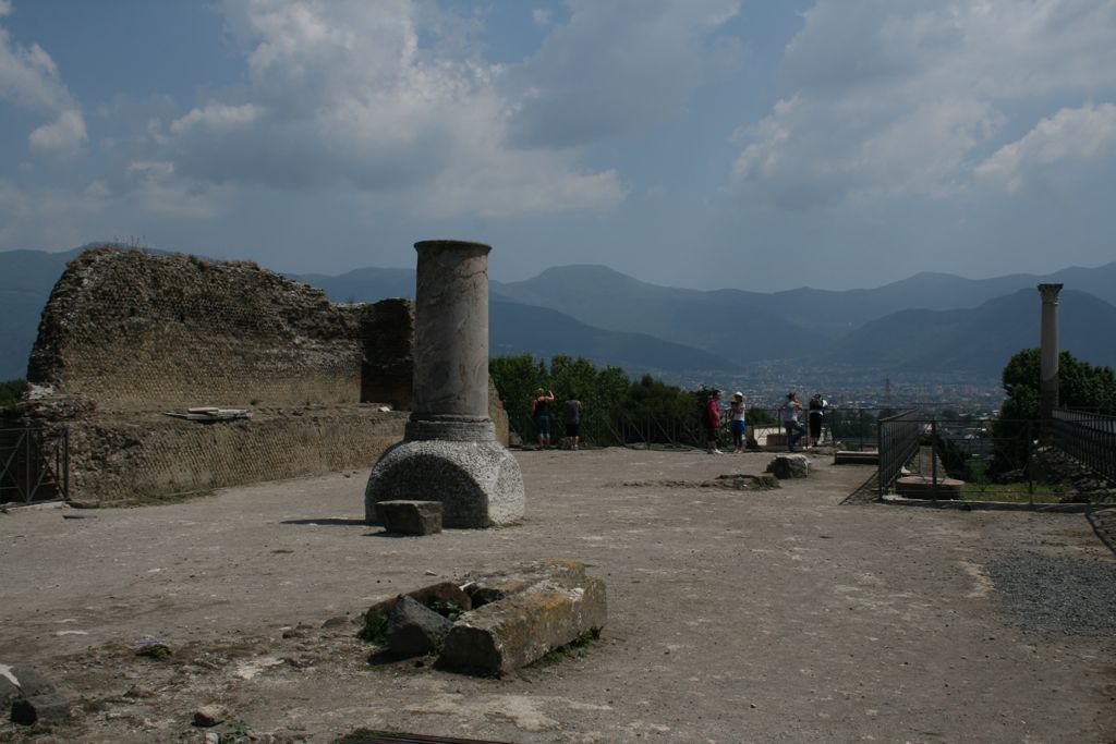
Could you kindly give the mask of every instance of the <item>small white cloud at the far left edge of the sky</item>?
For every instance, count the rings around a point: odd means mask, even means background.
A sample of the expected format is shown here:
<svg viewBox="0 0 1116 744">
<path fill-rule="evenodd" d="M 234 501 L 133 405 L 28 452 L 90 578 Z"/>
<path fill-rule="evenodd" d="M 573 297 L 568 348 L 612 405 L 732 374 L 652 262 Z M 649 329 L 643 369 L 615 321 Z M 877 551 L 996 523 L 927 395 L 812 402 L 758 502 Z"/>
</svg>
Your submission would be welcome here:
<svg viewBox="0 0 1116 744">
<path fill-rule="evenodd" d="M 0 0 L 0 18 L 10 12 L 11 3 Z M 65 157 L 85 144 L 80 107 L 62 84 L 54 59 L 37 44 L 30 48 L 15 44 L 4 28 L 0 28 L 0 99 L 56 117 L 30 134 L 28 144 L 36 153 Z"/>
</svg>

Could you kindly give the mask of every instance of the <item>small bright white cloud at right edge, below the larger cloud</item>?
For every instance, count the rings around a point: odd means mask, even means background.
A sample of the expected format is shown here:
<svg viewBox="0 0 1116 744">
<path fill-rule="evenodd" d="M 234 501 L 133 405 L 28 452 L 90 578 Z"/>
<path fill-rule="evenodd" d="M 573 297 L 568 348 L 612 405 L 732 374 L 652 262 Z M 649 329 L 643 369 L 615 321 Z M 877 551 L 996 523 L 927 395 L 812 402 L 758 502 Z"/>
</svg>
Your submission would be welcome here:
<svg viewBox="0 0 1116 744">
<path fill-rule="evenodd" d="M 1062 108 L 977 167 L 977 176 L 1011 192 L 1067 168 L 1107 167 L 1116 160 L 1116 105 Z"/>
</svg>

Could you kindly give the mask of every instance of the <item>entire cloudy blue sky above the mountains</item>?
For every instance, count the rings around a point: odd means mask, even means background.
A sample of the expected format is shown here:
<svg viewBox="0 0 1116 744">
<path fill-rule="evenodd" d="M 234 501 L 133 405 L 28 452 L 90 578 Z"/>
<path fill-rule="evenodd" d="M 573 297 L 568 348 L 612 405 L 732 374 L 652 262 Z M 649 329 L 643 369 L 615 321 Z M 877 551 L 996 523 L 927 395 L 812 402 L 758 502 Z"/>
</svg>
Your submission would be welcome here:
<svg viewBox="0 0 1116 744">
<path fill-rule="evenodd" d="M 0 250 L 878 287 L 1116 260 L 1116 0 L 0 0 Z"/>
</svg>

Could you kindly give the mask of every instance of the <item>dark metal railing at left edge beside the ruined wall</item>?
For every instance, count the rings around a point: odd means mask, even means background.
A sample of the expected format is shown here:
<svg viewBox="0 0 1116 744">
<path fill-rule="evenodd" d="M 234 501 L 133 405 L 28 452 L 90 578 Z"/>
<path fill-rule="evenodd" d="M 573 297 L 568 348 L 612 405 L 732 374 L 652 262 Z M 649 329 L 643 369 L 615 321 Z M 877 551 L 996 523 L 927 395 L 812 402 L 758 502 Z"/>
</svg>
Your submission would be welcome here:
<svg viewBox="0 0 1116 744">
<path fill-rule="evenodd" d="M 69 432 L 0 429 L 0 503 L 69 499 Z"/>
</svg>

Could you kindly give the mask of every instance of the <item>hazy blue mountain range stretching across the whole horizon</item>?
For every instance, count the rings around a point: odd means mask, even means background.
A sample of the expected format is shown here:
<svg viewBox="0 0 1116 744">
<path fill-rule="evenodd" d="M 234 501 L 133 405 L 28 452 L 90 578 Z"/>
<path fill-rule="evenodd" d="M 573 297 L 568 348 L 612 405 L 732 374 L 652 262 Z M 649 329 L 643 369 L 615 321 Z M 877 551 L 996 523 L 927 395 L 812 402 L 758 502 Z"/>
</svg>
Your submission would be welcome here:
<svg viewBox="0 0 1116 744">
<path fill-rule="evenodd" d="M 66 253 L 0 252 L 0 379 L 26 374 L 39 313 Z M 412 269 L 290 276 L 334 301 L 413 297 Z M 998 376 L 1038 346 L 1036 284 L 1061 282 L 1060 346 L 1116 366 L 1116 262 L 1047 276 L 964 279 L 924 272 L 875 289 L 780 292 L 662 287 L 603 265 L 555 267 L 490 282 L 493 355 L 584 356 L 629 374 L 732 375 L 767 360 L 889 373 Z"/>
</svg>

